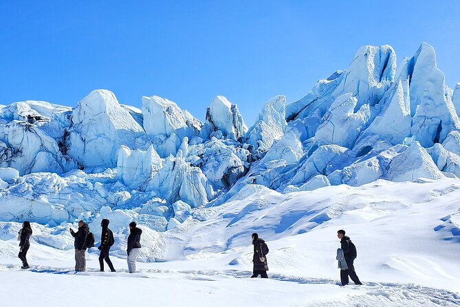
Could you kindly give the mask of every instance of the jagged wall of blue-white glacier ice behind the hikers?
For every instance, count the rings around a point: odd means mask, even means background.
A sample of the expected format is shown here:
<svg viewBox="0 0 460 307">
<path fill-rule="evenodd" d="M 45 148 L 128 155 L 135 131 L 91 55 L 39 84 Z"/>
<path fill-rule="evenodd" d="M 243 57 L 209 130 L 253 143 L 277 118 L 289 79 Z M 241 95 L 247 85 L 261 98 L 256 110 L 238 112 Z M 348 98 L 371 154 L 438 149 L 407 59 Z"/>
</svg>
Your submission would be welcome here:
<svg viewBox="0 0 460 307">
<path fill-rule="evenodd" d="M 201 123 L 176 103 L 142 110 L 99 89 L 75 108 L 0 106 L 0 220 L 138 220 L 165 231 L 249 184 L 280 193 L 329 185 L 460 177 L 460 83 L 423 43 L 397 65 L 364 46 L 300 100 L 275 96 L 247 127 L 216 96 Z M 206 217 L 199 217 L 206 220 Z"/>
</svg>

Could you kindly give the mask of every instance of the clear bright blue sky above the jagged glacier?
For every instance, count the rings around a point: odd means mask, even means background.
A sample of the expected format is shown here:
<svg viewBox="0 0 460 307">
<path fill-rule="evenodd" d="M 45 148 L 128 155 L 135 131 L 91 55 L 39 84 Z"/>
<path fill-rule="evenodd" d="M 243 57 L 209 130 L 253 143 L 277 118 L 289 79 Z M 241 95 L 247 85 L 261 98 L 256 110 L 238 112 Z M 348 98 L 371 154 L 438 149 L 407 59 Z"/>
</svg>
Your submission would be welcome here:
<svg viewBox="0 0 460 307">
<path fill-rule="evenodd" d="M 398 63 L 435 47 L 460 82 L 460 1 L 0 1 L 0 104 L 74 107 L 92 89 L 120 103 L 162 96 L 204 120 L 216 95 L 252 125 L 276 94 L 301 98 L 362 45 Z"/>
</svg>

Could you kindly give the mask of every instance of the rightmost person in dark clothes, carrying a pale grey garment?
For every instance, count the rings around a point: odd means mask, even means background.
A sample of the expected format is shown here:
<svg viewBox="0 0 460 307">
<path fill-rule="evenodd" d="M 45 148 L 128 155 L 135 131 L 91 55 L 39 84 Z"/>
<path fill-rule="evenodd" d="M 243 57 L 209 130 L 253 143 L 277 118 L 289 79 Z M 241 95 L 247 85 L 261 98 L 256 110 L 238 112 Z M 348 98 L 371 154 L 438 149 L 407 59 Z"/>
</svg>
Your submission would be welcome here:
<svg viewBox="0 0 460 307">
<path fill-rule="evenodd" d="M 340 249 L 342 250 L 338 251 L 337 253 L 337 260 L 339 260 L 340 268 L 340 281 L 342 282 L 342 286 L 345 286 L 349 283 L 349 276 L 355 284 L 361 284 L 358 275 L 355 273 L 355 267 L 353 266 L 353 262 L 356 258 L 355 244 L 351 242 L 350 237 L 347 237 L 347 235 L 345 235 L 345 231 L 342 229 L 337 231 L 337 237 L 340 239 Z M 345 260 L 345 263 L 343 262 L 342 258 Z"/>
</svg>

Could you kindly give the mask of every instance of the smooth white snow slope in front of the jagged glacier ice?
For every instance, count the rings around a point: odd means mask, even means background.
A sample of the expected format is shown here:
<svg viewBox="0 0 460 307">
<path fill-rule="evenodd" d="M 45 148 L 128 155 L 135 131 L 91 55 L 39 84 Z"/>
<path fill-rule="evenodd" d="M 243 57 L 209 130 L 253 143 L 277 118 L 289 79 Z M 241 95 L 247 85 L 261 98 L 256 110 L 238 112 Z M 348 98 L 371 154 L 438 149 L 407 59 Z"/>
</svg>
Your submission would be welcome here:
<svg viewBox="0 0 460 307">
<path fill-rule="evenodd" d="M 1 222 L 0 294 L 6 306 L 23 306 L 23 290 L 15 285 L 27 282 L 34 284 L 28 294 L 36 295 L 39 306 L 61 306 L 63 300 L 73 306 L 75 287 L 85 283 L 97 289 L 91 304 L 115 306 L 152 299 L 168 306 L 246 306 L 254 295 L 268 306 L 458 306 L 459 193 L 456 178 L 377 180 L 286 194 L 248 185 L 221 206 L 185 206 L 190 215 L 172 230 L 155 233 L 141 225 L 147 230 L 141 240 L 144 253 L 139 273 L 132 275 L 122 253 L 126 224 L 118 229 L 111 217 L 117 273 L 99 273 L 98 252 L 92 248 L 88 272 L 77 275 L 67 231 L 71 224 L 33 223 L 32 266 L 21 271 L 16 258 L 21 226 Z M 98 223 L 90 224 L 95 234 Z M 357 246 L 355 269 L 364 286 L 339 286 L 338 229 L 345 229 Z M 270 247 L 269 280 L 249 278 L 254 231 Z"/>
</svg>

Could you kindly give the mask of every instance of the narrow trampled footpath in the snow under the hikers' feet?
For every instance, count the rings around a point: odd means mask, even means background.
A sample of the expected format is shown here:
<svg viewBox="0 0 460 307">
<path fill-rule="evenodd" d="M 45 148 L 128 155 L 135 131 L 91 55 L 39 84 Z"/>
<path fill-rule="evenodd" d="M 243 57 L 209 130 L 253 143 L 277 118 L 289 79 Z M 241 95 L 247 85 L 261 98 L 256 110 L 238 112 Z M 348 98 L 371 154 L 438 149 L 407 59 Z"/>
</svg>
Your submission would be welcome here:
<svg viewBox="0 0 460 307">
<path fill-rule="evenodd" d="M 22 271 L 18 265 L 0 265 L 0 271 Z M 57 268 L 50 266 L 31 266 L 31 273 L 74 275 L 72 268 Z M 248 279 L 252 272 L 236 270 L 184 270 L 171 271 L 162 269 L 141 268 L 139 273 L 129 274 L 127 270 L 121 269 L 117 273 L 99 272 L 89 268 L 87 272 L 76 273 L 77 275 L 98 276 L 98 277 L 131 277 L 157 279 L 159 274 L 167 275 L 178 279 L 189 279 L 204 282 L 219 282 L 222 278 Z M 156 276 L 155 276 L 156 275 Z M 327 285 L 337 286 L 333 291 L 340 291 L 340 282 L 335 279 L 319 279 L 311 277 L 298 277 L 282 274 L 271 274 L 270 279 L 279 282 L 294 282 L 305 285 Z M 256 281 L 254 281 L 256 282 Z M 346 286 L 344 288 L 356 290 L 356 293 L 349 295 L 347 301 L 329 301 L 327 303 L 309 303 L 301 306 L 460 306 L 460 295 L 449 290 L 428 288 L 415 284 L 365 282 L 364 286 Z"/>
</svg>

